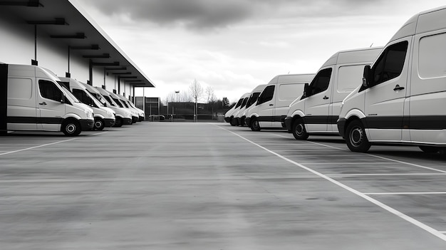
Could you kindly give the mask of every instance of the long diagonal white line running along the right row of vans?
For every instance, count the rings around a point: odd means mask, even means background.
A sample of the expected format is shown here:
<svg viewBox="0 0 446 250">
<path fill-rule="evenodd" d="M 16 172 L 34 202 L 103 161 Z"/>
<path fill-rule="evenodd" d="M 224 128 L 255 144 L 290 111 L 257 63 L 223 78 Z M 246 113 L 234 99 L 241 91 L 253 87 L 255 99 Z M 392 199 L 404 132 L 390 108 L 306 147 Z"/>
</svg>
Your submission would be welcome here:
<svg viewBox="0 0 446 250">
<path fill-rule="evenodd" d="M 301 165 L 298 162 L 289 160 L 288 158 L 284 157 L 283 155 L 280 155 L 274 151 L 271 151 L 271 150 L 267 149 L 266 147 L 263 147 L 263 146 L 257 144 L 256 142 L 252 142 L 251 140 L 248 140 L 247 138 L 243 137 L 242 135 L 238 135 L 237 133 L 227 130 L 224 127 L 220 127 L 218 125 L 216 125 L 216 126 L 221 128 L 222 130 L 226 130 L 227 132 L 232 133 L 233 135 L 237 135 L 238 137 L 242 138 L 243 140 L 246 140 L 247 142 L 251 143 L 252 145 L 256 145 L 257 147 L 260 147 L 262 150 L 265 150 L 266 152 L 270 152 L 271 154 L 276 155 L 277 157 L 281 158 L 282 160 L 285 160 L 286 162 L 296 165 L 297 167 L 301 167 L 302 169 L 307 170 L 308 172 L 312 172 L 314 175 L 318 175 L 319 177 L 326 179 L 329 182 L 332 182 L 333 184 L 336 184 L 339 187 L 342 187 L 343 189 L 346 189 L 346 190 L 352 192 L 353 194 L 356 194 L 359 197 L 362 197 L 363 199 L 368 200 L 369 202 L 372 202 L 373 204 L 377 205 L 378 207 L 381 207 L 381 208 L 387 210 L 388 212 L 395 214 L 396 216 L 400 217 L 401 219 L 404 219 L 405 221 L 410 222 L 410 223 L 414 224 L 415 226 L 420 227 L 421 229 L 424 229 L 425 231 L 429 232 L 430 234 L 432 234 L 434 236 L 437 236 L 438 238 L 442 239 L 443 241 L 446 241 L 446 235 L 440 233 L 439 231 L 433 229 L 432 227 L 427 226 L 426 224 L 423 224 L 422 222 L 419 222 L 418 220 L 413 219 L 412 217 L 410 217 L 406 214 L 403 214 L 402 212 L 399 212 L 398 210 L 393 209 L 392 207 L 389 207 L 388 205 L 383 204 L 382 202 L 378 202 L 378 200 L 373 199 L 372 197 L 369 197 L 368 195 L 363 194 L 356 189 L 348 187 L 346 184 L 342 184 L 341 182 L 338 182 L 335 179 L 332 179 L 326 175 L 323 175 L 320 172 L 317 172 L 316 170 L 312 170 L 309 167 L 305 167 L 304 165 Z"/>
</svg>

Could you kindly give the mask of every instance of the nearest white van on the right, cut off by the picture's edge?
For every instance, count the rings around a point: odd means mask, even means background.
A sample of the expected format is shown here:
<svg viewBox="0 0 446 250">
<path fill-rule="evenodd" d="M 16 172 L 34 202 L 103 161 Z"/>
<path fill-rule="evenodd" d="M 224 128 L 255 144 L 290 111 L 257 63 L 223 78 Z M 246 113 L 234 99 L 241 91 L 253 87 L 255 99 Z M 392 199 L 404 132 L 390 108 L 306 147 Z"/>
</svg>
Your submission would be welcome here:
<svg viewBox="0 0 446 250">
<path fill-rule="evenodd" d="M 343 100 L 338 129 L 351 151 L 376 142 L 446 149 L 446 6 L 409 19 Z"/>
</svg>

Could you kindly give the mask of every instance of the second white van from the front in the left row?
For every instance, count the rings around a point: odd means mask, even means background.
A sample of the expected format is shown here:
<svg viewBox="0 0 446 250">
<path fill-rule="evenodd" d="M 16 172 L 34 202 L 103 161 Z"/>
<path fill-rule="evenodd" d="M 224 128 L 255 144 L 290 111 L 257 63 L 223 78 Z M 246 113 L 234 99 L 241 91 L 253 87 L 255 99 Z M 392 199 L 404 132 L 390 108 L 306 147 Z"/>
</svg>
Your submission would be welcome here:
<svg viewBox="0 0 446 250">
<path fill-rule="evenodd" d="M 104 127 L 112 127 L 115 125 L 115 111 L 105 107 L 99 100 L 96 100 L 96 98 L 87 91 L 83 83 L 80 83 L 73 78 L 60 77 L 59 79 L 61 79 L 59 83 L 68 88 L 78 100 L 93 109 L 93 118 L 95 119 L 93 129 L 103 130 Z"/>
</svg>

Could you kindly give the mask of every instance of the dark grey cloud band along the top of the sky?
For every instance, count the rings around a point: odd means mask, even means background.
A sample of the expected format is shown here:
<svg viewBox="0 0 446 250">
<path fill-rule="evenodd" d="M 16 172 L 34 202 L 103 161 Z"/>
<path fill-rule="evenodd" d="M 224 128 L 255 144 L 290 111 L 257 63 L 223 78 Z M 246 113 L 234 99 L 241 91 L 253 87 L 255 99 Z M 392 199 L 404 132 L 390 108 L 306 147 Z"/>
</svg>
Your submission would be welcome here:
<svg viewBox="0 0 446 250">
<path fill-rule="evenodd" d="M 376 1 L 358 0 L 81 0 L 105 15 L 192 30 L 216 30 L 247 20 L 350 16 L 371 11 Z M 374 11 L 376 12 L 376 11 Z M 379 12 L 378 12 L 379 13 Z M 371 13 L 370 13 L 371 14 Z M 375 13 L 373 13 L 375 14 Z"/>
</svg>

